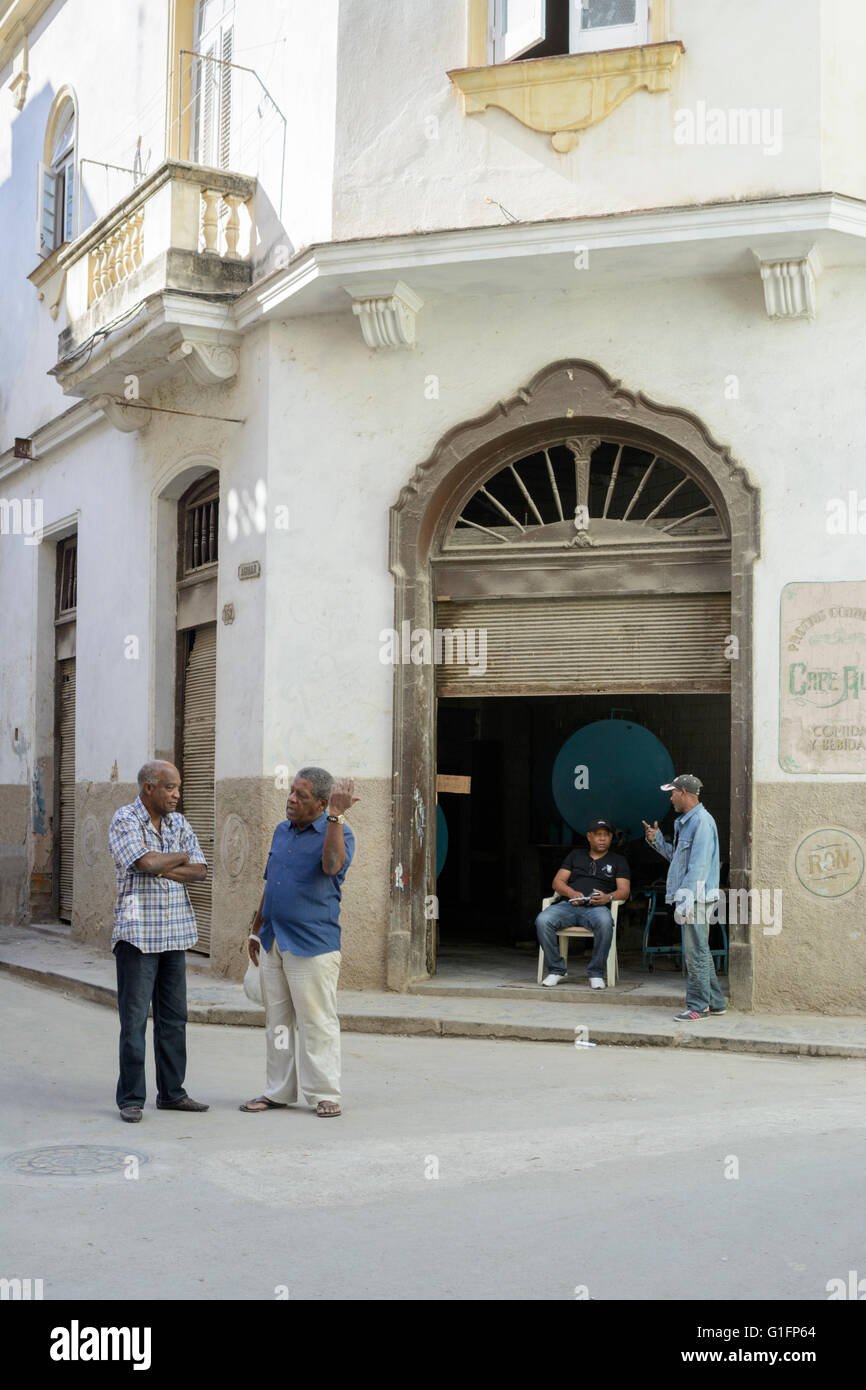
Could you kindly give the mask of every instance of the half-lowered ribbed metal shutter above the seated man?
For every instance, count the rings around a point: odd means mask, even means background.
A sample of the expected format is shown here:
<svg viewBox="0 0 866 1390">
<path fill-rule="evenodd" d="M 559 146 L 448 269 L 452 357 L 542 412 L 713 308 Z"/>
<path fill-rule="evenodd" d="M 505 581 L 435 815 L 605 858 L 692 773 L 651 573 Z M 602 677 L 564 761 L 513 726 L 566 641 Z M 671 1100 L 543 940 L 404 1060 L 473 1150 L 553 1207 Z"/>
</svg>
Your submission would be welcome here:
<svg viewBox="0 0 866 1390">
<path fill-rule="evenodd" d="M 731 688 L 730 594 L 442 600 L 436 627 L 452 630 L 450 649 L 442 638 L 438 659 L 434 645 L 439 695 L 727 694 Z M 487 631 L 484 671 L 480 630 Z"/>
</svg>

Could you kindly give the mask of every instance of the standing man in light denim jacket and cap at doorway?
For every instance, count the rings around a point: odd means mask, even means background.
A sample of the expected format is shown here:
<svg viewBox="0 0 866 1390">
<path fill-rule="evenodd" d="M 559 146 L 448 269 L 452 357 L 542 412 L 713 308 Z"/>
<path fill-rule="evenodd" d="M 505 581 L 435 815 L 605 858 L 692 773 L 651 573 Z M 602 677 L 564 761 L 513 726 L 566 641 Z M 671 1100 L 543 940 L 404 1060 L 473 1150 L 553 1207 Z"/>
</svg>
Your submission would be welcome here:
<svg viewBox="0 0 866 1390">
<path fill-rule="evenodd" d="M 669 860 L 664 901 L 676 903 L 674 917 L 683 923 L 685 949 L 685 1009 L 677 1023 L 695 1023 L 710 1013 L 724 1013 L 726 998 L 719 988 L 716 966 L 709 949 L 710 922 L 719 899 L 719 831 L 709 810 L 701 805 L 703 783 L 691 773 L 664 783 L 677 812 L 674 842 L 667 844 L 659 821 L 644 821 L 646 840 Z"/>
</svg>

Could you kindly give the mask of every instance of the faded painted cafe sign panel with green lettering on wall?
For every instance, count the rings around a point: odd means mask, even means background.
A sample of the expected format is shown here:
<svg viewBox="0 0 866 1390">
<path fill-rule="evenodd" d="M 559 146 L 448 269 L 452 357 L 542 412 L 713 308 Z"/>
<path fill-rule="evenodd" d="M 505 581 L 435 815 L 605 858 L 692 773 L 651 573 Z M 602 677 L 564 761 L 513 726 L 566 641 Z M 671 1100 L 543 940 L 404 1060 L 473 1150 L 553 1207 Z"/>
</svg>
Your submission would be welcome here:
<svg viewBox="0 0 866 1390">
<path fill-rule="evenodd" d="M 785 584 L 780 677 L 784 770 L 866 773 L 866 584 Z"/>
</svg>

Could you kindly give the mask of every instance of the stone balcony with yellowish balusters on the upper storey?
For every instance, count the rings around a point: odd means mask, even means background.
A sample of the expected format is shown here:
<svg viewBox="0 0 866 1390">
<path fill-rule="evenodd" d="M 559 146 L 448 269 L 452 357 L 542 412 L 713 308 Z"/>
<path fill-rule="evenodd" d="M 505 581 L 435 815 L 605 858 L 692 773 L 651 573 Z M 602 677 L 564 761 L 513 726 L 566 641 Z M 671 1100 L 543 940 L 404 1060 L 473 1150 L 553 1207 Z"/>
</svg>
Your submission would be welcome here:
<svg viewBox="0 0 866 1390">
<path fill-rule="evenodd" d="M 140 395 L 179 364 L 200 385 L 235 375 L 225 302 L 252 284 L 254 193 L 254 178 L 167 161 L 56 253 L 67 328 L 51 375 L 65 395 L 132 430 L 146 411 L 122 404 L 131 374 Z"/>
</svg>

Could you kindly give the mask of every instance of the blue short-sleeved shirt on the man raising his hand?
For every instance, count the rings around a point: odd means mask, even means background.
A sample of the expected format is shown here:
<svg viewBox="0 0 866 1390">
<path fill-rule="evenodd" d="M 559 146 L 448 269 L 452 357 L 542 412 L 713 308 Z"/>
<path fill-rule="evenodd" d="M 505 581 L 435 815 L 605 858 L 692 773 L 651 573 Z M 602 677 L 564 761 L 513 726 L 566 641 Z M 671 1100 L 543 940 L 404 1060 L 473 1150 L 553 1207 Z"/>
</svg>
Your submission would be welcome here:
<svg viewBox="0 0 866 1390">
<path fill-rule="evenodd" d="M 327 828 L 327 812 L 303 830 L 291 820 L 277 826 L 264 870 L 259 934 L 265 951 L 274 935 L 279 949 L 292 955 L 339 951 L 341 885 L 354 853 L 354 835 L 345 824 L 346 862 L 339 873 L 327 874 L 321 866 Z"/>
</svg>

